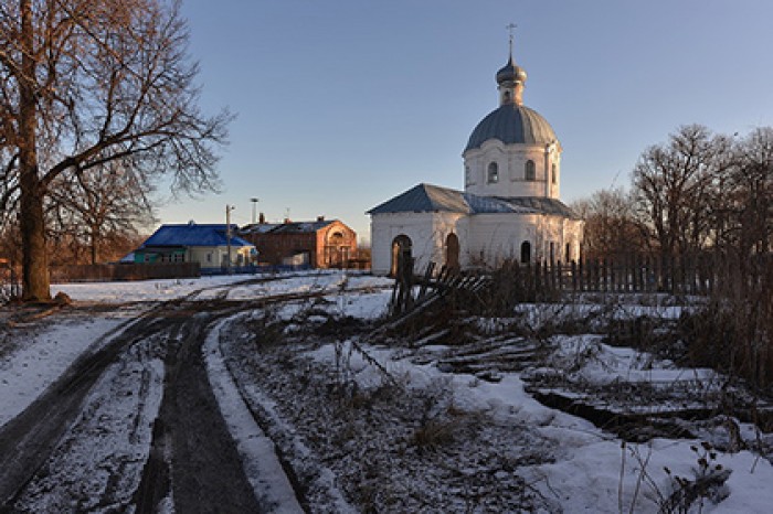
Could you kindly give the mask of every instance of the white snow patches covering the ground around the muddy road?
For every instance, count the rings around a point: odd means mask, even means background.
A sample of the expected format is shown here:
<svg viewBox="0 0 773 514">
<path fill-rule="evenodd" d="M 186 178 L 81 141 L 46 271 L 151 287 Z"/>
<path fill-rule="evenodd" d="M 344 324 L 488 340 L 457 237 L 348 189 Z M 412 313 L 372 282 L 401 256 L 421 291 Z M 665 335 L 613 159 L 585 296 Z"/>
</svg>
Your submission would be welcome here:
<svg viewBox="0 0 773 514">
<path fill-rule="evenodd" d="M 391 281 L 386 279 L 367 275 L 309 272 L 271 277 L 271 279 L 260 276 L 233 276 L 195 280 L 54 286 L 53 292 L 64 291 L 74 300 L 76 306 L 74 313 L 64 310 L 35 323 L 3 329 L 4 345 L 0 350 L 0 427 L 19 415 L 80 356 L 107 344 L 110 334 L 127 323 L 127 315 L 135 315 L 144 309 L 137 307 L 127 311 L 124 308 L 119 309 L 118 306 L 131 302 L 152 304 L 172 299 L 253 300 L 277 295 L 318 291 L 327 296 L 325 302 L 315 309 L 321 309 L 340 318 L 351 317 L 363 322 L 372 322 L 382 317 L 386 310 L 391 292 L 390 285 Z M 117 307 L 115 311 L 100 309 L 97 314 L 84 314 L 77 311 L 80 303 L 116 304 Z M 526 311 L 534 309 L 537 312 L 533 307 L 523 309 Z M 590 312 L 593 307 L 586 306 L 583 309 Z M 642 307 L 629 309 L 621 307 L 615 315 L 625 317 L 626 313 L 638 315 L 643 309 Z M 671 307 L 648 309 L 658 309 L 660 314 L 666 312 L 666 317 L 678 315 Z M 544 311 L 540 312 L 544 315 Z M 304 313 L 308 315 L 303 318 Z M 529 312 L 527 314 L 530 315 Z M 240 315 L 244 317 L 244 314 Z M 316 314 L 309 304 L 304 302 L 284 304 L 276 315 L 284 320 L 285 330 L 290 334 L 301 331 L 304 323 L 322 325 L 329 319 Z M 297 451 L 306 454 L 306 458 L 310 458 L 309 454 L 315 450 L 309 449 L 308 435 L 304 430 L 296 431 L 297 427 L 294 428 L 287 419 L 283 418 L 283 410 L 277 404 L 288 401 L 287 398 L 272 396 L 269 390 L 261 389 L 260 385 L 255 384 L 242 387 L 252 390 L 252 394 L 246 395 L 247 403 L 262 403 L 262 406 L 247 405 L 240 396 L 240 386 L 234 381 L 247 374 L 248 370 L 246 367 L 230 370 L 229 365 L 233 366 L 233 361 L 227 361 L 221 353 L 221 347 L 229 347 L 229 343 L 222 341 L 223 338 L 229 336 L 229 332 L 222 328 L 229 325 L 231 321 L 235 319 L 221 321 L 204 344 L 210 382 L 227 420 L 229 429 L 237 441 L 243 465 L 256 495 L 271 499 L 276 506 L 274 512 L 301 512 L 293 497 L 292 486 L 283 474 L 282 464 L 275 458 L 273 460 L 271 458 L 274 451 L 272 440 L 276 439 L 276 435 L 261 429 L 253 419 L 251 409 L 260 407 L 265 413 L 271 413 L 274 422 L 287 431 L 285 437 L 290 441 L 289 445 L 294 445 L 296 450 L 300 448 L 301 450 Z M 373 390 L 383 383 L 381 370 L 388 371 L 391 376 L 399 376 L 403 386 L 414 392 L 443 384 L 443 387 L 448 389 L 449 397 L 453 398 L 454 409 L 466 415 L 479 415 L 481 416 L 479 419 L 488 420 L 486 422 L 490 421 L 497 427 L 497 431 L 478 429 L 476 446 L 469 447 L 470 451 L 485 454 L 485 451 L 488 451 L 486 445 L 490 445 L 490 448 L 498 448 L 498 445 L 507 448 L 508 430 L 512 430 L 513 438 L 516 435 L 521 437 L 528 432 L 533 438 L 534 448 L 543 452 L 539 459 L 533 463 L 522 463 L 515 470 L 489 469 L 486 472 L 491 472 L 495 480 L 500 480 L 502 483 L 517 478 L 518 483 L 526 484 L 531 496 L 539 499 L 538 504 L 543 512 L 656 513 L 658 505 L 663 504 L 677 488 L 676 476 L 696 481 L 714 473 L 729 473 L 729 478 L 712 493 L 713 501 L 703 499 L 700 503 L 695 503 L 690 512 L 733 514 L 772 512 L 773 467 L 769 460 L 753 451 L 742 449 L 732 453 L 722 452 L 703 446 L 705 440 L 695 439 L 655 438 L 643 443 L 623 443 L 614 435 L 596 428 L 583 418 L 549 408 L 538 401 L 528 392 L 525 375 L 520 372 L 505 372 L 500 374 L 498 381 L 487 382 L 475 374 L 447 372 L 440 366 L 438 362 L 449 351 L 443 344 L 424 346 L 423 358 L 416 358 L 415 352 L 405 349 L 370 346 L 367 340 L 360 343 L 361 350 L 366 353 L 352 349 L 350 341 L 338 341 L 305 346 L 307 350 L 300 357 L 313 363 L 314 366 L 340 368 L 341 355 L 346 355 L 348 379 L 363 392 Z M 616 381 L 668 384 L 684 378 L 710 384 L 714 377 L 708 370 L 679 368 L 667 360 L 657 360 L 631 349 L 605 345 L 594 335 L 563 335 L 553 340 L 553 343 L 557 351 L 548 358 L 549 366 L 538 372 L 562 374 L 575 364 L 578 355 L 592 354 L 593 358 L 584 361 L 583 365 L 572 372 L 573 379 L 582 379 L 590 385 L 614 385 Z M 150 366 L 152 377 L 149 379 L 148 387 L 157 389 L 163 379 L 162 366 L 152 355 L 147 358 L 152 364 Z M 109 381 L 118 381 L 119 385 L 115 387 L 130 389 L 131 385 L 126 382 L 126 377 L 129 373 L 137 373 L 136 370 L 121 371 L 120 366 L 129 366 L 126 363 L 117 363 L 116 366 L 119 367 L 115 367 L 112 374 L 103 377 L 95 387 Z M 534 373 L 534 370 L 530 370 L 529 373 Z M 109 421 L 113 418 L 120 418 L 125 416 L 125 410 L 135 408 L 131 401 L 136 401 L 136 398 L 115 405 L 100 398 L 99 395 L 99 390 L 95 389 L 89 401 L 95 405 L 94 409 L 99 410 L 102 419 Z M 128 395 L 130 398 L 131 394 L 128 393 Z M 108 407 L 109 411 L 105 410 Z M 158 410 L 158 400 L 144 404 L 141 409 L 142 419 L 152 419 Z M 94 424 L 95 421 L 92 419 L 82 420 L 82 422 Z M 744 424 L 739 425 L 746 437 L 755 437 L 753 428 Z M 99 428 L 94 426 L 86 429 L 99 431 Z M 135 460 L 141 461 L 147 458 L 146 446 L 149 437 L 146 426 L 146 429 L 140 430 L 133 439 L 131 445 L 110 442 L 109 437 L 106 437 L 104 440 L 107 447 L 100 448 L 103 448 L 102 451 L 105 451 L 104 448 L 107 448 L 107 451 L 113 448 L 116 452 L 130 453 Z M 762 437 L 769 437 L 769 435 L 762 435 Z M 521 440 L 518 445 L 528 446 L 529 442 Z M 71 445 L 73 448 L 75 446 Z M 85 449 L 76 448 L 73 451 L 85 451 Z M 317 458 L 320 461 L 326 459 L 325 456 L 317 456 Z M 436 454 L 433 458 L 436 459 Z M 303 459 L 296 458 L 296 461 L 298 460 Z M 66 461 L 63 462 L 66 463 Z M 448 461 L 452 465 L 455 462 L 457 461 Z M 88 469 L 88 467 L 84 468 L 84 470 Z M 315 480 L 317 486 L 325 490 L 319 497 L 325 497 L 328 507 L 333 511 L 357 512 L 359 508 L 352 506 L 349 499 L 346 499 L 343 492 L 346 488 L 336 485 L 335 469 L 333 462 L 328 465 L 319 464 L 318 476 Z M 470 476 L 479 472 L 476 468 L 456 471 L 462 475 L 469 473 Z M 68 480 L 73 480 L 72 474 L 68 476 Z M 85 476 L 81 479 L 77 476 L 75 475 L 75 480 L 88 480 Z M 52 478 L 52 480 L 55 479 L 56 476 Z M 396 482 L 402 479 L 394 476 L 394 480 Z M 390 484 L 384 484 L 384 486 L 388 485 Z M 440 493 L 445 492 L 440 491 Z M 451 491 L 447 493 L 452 494 Z M 451 505 L 454 504 L 451 503 Z M 481 505 L 486 504 L 481 503 Z M 485 511 L 484 507 L 476 508 L 472 505 L 469 512 Z M 315 512 L 324 512 L 324 508 L 319 506 L 319 511 Z M 379 512 L 398 511 L 383 507 Z M 519 512 L 519 510 L 513 508 L 512 512 Z"/>
</svg>

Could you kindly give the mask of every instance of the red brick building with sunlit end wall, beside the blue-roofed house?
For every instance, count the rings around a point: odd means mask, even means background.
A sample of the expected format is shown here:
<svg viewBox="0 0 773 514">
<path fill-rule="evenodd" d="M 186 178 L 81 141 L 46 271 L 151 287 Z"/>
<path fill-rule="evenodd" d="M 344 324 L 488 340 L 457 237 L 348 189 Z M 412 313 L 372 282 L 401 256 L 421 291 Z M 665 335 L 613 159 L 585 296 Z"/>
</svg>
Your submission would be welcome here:
<svg viewBox="0 0 773 514">
<path fill-rule="evenodd" d="M 260 264 L 345 268 L 357 254 L 357 233 L 338 219 L 319 216 L 314 222 L 258 223 L 246 225 L 240 235 L 255 245 Z"/>
</svg>

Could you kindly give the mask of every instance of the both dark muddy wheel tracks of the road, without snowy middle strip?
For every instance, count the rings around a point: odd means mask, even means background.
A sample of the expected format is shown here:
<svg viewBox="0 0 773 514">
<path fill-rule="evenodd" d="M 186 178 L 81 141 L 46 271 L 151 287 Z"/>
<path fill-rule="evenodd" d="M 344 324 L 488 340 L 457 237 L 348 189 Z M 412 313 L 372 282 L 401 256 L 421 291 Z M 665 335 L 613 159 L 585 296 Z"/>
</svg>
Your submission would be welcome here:
<svg viewBox="0 0 773 514">
<path fill-rule="evenodd" d="M 150 454 L 133 496 L 136 512 L 157 512 L 170 496 L 177 512 L 263 510 L 222 418 L 201 345 L 212 323 L 224 317 L 335 292 L 282 293 L 248 301 L 192 300 L 199 292 L 161 303 L 103 335 L 102 343 L 95 344 L 97 351 L 80 357 L 23 413 L 0 428 L 0 512 L 23 510 L 17 502 L 71 429 L 106 368 L 135 343 L 159 334 L 169 334 L 167 375 Z M 110 482 L 116 482 L 113 479 Z"/>
</svg>

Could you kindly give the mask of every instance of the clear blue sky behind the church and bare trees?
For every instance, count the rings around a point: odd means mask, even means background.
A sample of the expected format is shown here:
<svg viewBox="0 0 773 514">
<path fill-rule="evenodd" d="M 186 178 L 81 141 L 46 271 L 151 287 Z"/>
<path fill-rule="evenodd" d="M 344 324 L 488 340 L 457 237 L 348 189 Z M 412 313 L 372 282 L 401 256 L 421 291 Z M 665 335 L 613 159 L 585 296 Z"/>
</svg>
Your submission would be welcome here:
<svg viewBox="0 0 773 514">
<path fill-rule="evenodd" d="M 566 203 L 627 185 L 679 125 L 773 125 L 770 0 L 187 0 L 202 107 L 237 114 L 222 193 L 165 205 L 163 223 L 340 218 L 428 182 L 463 189 L 462 150 L 497 107 L 515 56 L 525 104 L 563 146 Z"/>
</svg>

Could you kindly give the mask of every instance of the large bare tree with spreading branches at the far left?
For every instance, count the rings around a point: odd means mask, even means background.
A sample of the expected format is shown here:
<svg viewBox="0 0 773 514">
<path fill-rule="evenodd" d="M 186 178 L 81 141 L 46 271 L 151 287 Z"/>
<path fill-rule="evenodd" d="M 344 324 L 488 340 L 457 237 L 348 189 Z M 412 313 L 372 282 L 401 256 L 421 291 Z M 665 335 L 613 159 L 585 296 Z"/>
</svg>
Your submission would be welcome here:
<svg viewBox="0 0 773 514">
<path fill-rule="evenodd" d="M 18 194 L 23 298 L 46 300 L 44 205 L 53 184 L 130 158 L 173 186 L 216 185 L 231 116 L 201 114 L 179 2 L 0 0 L 6 197 Z"/>
</svg>

